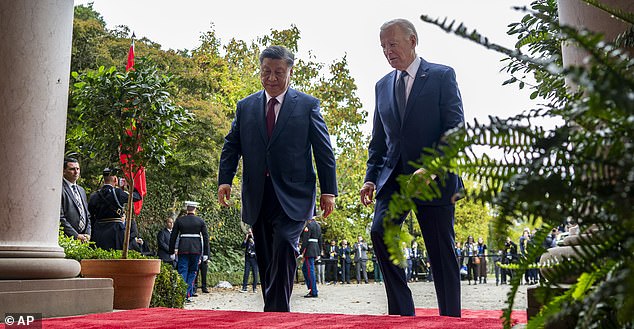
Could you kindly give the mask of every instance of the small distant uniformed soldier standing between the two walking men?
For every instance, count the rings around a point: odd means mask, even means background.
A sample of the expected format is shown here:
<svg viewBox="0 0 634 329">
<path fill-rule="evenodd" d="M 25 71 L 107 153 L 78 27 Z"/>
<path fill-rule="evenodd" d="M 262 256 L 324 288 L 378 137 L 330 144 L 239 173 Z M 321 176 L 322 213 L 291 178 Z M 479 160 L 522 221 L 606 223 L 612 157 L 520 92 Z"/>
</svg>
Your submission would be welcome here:
<svg viewBox="0 0 634 329">
<path fill-rule="evenodd" d="M 308 220 L 301 235 L 302 247 L 299 250 L 304 257 L 302 272 L 308 287 L 308 294 L 304 297 L 315 298 L 318 296 L 317 280 L 315 277 L 315 258 L 321 256 L 321 226 L 314 218 Z"/>
</svg>

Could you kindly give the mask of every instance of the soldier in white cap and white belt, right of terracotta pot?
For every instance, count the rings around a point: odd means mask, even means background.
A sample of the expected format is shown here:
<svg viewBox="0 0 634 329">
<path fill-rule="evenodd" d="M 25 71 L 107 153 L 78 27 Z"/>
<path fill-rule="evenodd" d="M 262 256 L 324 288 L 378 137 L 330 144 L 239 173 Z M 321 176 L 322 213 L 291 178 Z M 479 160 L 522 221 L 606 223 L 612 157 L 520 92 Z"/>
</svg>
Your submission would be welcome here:
<svg viewBox="0 0 634 329">
<path fill-rule="evenodd" d="M 205 221 L 196 216 L 198 202 L 186 201 L 187 215 L 179 217 L 174 223 L 170 236 L 170 257 L 176 259 L 176 240 L 178 239 L 178 273 L 187 283 L 187 302 L 196 291 L 194 279 L 198 263 L 209 259 L 209 233 Z M 202 237 L 202 239 L 201 239 Z"/>
</svg>

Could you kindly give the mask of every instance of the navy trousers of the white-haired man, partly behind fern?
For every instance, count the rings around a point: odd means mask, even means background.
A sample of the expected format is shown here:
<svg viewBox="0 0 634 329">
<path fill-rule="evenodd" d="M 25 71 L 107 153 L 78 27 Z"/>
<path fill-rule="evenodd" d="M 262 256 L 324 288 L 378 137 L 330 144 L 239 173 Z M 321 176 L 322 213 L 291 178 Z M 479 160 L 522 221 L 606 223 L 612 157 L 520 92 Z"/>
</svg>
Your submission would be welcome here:
<svg viewBox="0 0 634 329">
<path fill-rule="evenodd" d="M 390 261 L 390 254 L 383 241 L 383 218 L 389 203 L 389 197 L 376 200 L 370 235 L 385 282 L 388 313 L 413 316 L 414 300 L 407 286 L 405 270 Z M 454 210 L 453 205 L 417 204 L 418 224 L 434 269 L 434 287 L 440 315 L 460 317 L 460 272 L 454 251 Z M 406 216 L 407 214 L 403 214 L 397 224 L 402 224 Z"/>
</svg>

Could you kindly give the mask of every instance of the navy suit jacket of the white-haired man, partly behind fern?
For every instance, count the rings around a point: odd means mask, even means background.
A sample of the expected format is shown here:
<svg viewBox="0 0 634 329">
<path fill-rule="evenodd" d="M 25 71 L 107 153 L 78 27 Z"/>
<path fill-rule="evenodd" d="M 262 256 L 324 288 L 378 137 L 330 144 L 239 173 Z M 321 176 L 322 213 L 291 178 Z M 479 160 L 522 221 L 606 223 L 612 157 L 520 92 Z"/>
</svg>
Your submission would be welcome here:
<svg viewBox="0 0 634 329">
<path fill-rule="evenodd" d="M 409 162 L 418 162 L 424 148 L 436 148 L 445 132 L 464 122 L 462 99 L 451 67 L 421 60 L 402 122 L 394 101 L 396 78 L 395 70 L 375 87 L 376 108 L 365 181 L 376 184 L 376 198 L 396 192 L 397 184 L 386 184 L 396 178 L 393 174 L 412 174 L 416 168 Z M 395 173 L 395 168 L 400 168 L 400 172 Z M 440 184 L 442 196 L 423 204 L 452 203 L 451 197 L 462 188 L 462 181 L 452 173 L 444 179 L 445 184 Z"/>
</svg>

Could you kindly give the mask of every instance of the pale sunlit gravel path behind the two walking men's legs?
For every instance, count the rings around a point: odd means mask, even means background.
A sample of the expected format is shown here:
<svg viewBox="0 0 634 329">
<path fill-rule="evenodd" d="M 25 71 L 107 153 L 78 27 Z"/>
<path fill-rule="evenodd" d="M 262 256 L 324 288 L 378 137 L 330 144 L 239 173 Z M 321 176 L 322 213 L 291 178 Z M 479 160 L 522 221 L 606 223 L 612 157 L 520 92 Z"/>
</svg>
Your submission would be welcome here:
<svg viewBox="0 0 634 329">
<path fill-rule="evenodd" d="M 495 280 L 494 280 L 495 281 Z M 462 282 L 462 309 L 496 310 L 505 307 L 508 285 L 496 286 L 495 283 L 467 285 Z M 264 303 L 262 294 L 232 289 L 213 288 L 210 293 L 203 294 L 198 290 L 198 297 L 185 309 L 262 311 Z M 301 313 L 338 313 L 338 314 L 386 314 L 387 299 L 382 284 L 336 284 L 318 285 L 319 298 L 304 298 L 305 285 L 296 284 L 291 298 L 291 310 Z M 436 293 L 432 282 L 410 283 L 417 308 L 437 308 Z M 526 286 L 519 289 L 514 309 L 526 309 Z"/>
</svg>

